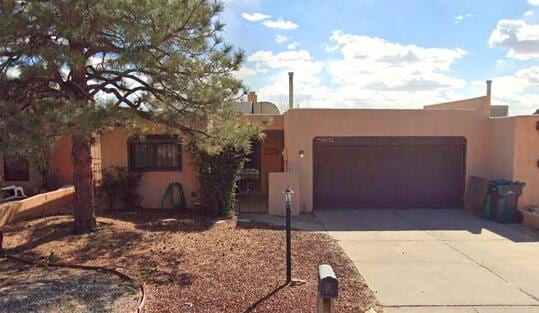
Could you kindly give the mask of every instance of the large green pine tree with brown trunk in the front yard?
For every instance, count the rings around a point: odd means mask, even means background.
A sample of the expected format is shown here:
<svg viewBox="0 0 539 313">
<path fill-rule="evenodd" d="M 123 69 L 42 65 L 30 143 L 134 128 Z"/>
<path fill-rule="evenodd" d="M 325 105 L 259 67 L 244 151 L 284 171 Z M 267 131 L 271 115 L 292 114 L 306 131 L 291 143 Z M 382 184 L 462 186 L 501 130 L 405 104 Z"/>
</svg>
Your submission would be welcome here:
<svg viewBox="0 0 539 313">
<path fill-rule="evenodd" d="M 0 1 L 0 117 L 60 116 L 73 141 L 75 232 L 96 225 L 93 132 L 144 119 L 197 136 L 240 92 L 231 72 L 243 53 L 223 43 L 222 9 L 203 0 Z"/>
</svg>

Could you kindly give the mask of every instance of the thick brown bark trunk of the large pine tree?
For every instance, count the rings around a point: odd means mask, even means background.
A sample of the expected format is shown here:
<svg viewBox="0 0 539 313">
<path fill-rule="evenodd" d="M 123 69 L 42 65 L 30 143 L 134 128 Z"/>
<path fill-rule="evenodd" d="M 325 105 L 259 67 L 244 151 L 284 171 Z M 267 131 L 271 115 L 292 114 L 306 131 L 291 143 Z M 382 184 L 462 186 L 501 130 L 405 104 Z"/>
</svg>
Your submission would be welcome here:
<svg viewBox="0 0 539 313">
<path fill-rule="evenodd" d="M 91 136 L 72 135 L 73 184 L 75 185 L 74 231 L 77 234 L 95 229 L 94 188 L 92 177 Z"/>
</svg>

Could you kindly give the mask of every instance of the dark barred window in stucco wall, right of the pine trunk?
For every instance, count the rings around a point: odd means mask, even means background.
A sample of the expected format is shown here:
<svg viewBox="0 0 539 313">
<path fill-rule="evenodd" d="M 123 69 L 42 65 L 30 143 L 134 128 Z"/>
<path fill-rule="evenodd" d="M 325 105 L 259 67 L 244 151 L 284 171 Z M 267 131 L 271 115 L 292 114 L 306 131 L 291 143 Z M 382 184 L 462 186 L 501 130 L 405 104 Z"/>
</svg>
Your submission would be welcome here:
<svg viewBox="0 0 539 313">
<path fill-rule="evenodd" d="M 146 135 L 129 141 L 129 169 L 171 171 L 182 169 L 182 145 L 177 136 Z"/>
</svg>

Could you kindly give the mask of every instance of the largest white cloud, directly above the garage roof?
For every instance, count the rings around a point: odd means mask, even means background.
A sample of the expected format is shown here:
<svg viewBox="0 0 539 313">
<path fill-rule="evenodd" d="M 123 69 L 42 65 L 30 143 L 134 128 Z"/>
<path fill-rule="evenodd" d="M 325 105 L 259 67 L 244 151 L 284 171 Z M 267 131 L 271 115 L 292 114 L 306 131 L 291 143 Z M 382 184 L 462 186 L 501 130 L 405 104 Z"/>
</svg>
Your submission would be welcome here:
<svg viewBox="0 0 539 313">
<path fill-rule="evenodd" d="M 345 106 L 419 108 L 448 101 L 466 81 L 451 76 L 466 52 L 425 48 L 381 38 L 333 32 L 326 48 L 337 58 L 328 64 L 337 86 L 333 103 Z"/>
</svg>

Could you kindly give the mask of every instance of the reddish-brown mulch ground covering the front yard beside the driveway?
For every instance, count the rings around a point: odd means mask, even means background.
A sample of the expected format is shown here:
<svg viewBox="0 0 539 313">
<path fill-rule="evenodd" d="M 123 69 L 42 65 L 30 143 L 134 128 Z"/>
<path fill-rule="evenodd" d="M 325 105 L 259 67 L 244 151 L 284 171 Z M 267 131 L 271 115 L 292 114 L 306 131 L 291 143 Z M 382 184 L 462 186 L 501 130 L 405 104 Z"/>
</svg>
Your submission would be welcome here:
<svg viewBox="0 0 539 313">
<path fill-rule="evenodd" d="M 235 219 L 194 224 L 171 213 L 118 213 L 98 218 L 99 230 L 71 233 L 71 217 L 22 222 L 4 229 L 8 252 L 116 268 L 142 282 L 143 312 L 316 312 L 317 265 L 339 277 L 336 312 L 377 308 L 372 291 L 326 234 L 293 232 L 293 276 L 284 286 L 284 231 Z"/>
</svg>

